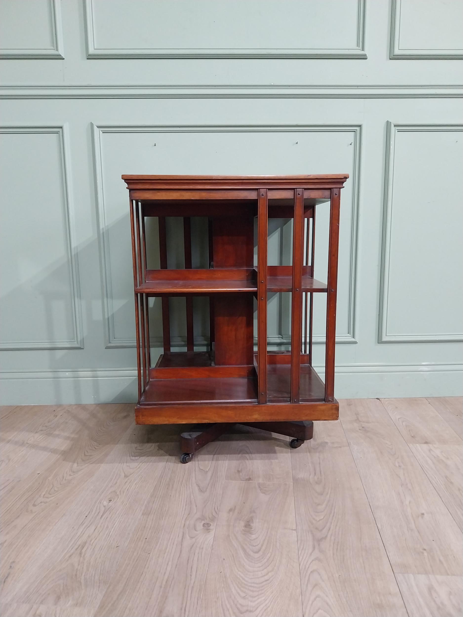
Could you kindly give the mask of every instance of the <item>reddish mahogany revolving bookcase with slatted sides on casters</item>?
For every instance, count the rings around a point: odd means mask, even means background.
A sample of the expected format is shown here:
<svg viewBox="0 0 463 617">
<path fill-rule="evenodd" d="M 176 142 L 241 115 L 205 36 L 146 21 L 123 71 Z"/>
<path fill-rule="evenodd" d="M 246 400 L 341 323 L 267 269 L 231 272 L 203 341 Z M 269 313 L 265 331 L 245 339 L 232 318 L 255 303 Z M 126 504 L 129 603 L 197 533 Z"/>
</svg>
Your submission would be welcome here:
<svg viewBox="0 0 463 617">
<path fill-rule="evenodd" d="M 180 436 L 181 462 L 191 460 L 196 450 L 235 423 L 293 437 L 290 445 L 298 447 L 311 439 L 314 420 L 338 418 L 334 397 L 336 286 L 340 194 L 348 177 L 122 176 L 130 198 L 135 287 L 135 419 L 138 424 L 199 423 Z M 330 208 L 327 284 L 314 279 L 315 210 L 320 204 Z M 158 217 L 159 270 L 148 268 L 146 217 Z M 184 269 L 167 268 L 165 217 L 183 218 Z M 208 219 L 209 268 L 191 267 L 190 217 Z M 268 221 L 272 217 L 294 219 L 291 266 L 267 265 Z M 289 352 L 267 350 L 269 292 L 291 292 Z M 312 368 L 315 293 L 327 296 L 324 384 Z M 164 345 L 155 366 L 151 365 L 148 319 L 148 298 L 153 296 L 162 299 Z M 170 346 L 172 296 L 186 298 L 183 352 L 173 352 Z M 208 351 L 194 350 L 193 296 L 209 297 Z"/>
</svg>

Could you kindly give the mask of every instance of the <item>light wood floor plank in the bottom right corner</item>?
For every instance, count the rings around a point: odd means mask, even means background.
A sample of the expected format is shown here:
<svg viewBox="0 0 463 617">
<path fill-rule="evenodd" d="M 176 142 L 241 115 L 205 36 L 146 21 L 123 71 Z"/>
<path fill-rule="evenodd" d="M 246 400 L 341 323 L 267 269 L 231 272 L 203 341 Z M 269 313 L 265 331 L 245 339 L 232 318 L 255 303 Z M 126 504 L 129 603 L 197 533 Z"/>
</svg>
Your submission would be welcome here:
<svg viewBox="0 0 463 617">
<path fill-rule="evenodd" d="M 409 617 L 461 617 L 463 579 L 461 576 L 397 574 Z"/>
</svg>

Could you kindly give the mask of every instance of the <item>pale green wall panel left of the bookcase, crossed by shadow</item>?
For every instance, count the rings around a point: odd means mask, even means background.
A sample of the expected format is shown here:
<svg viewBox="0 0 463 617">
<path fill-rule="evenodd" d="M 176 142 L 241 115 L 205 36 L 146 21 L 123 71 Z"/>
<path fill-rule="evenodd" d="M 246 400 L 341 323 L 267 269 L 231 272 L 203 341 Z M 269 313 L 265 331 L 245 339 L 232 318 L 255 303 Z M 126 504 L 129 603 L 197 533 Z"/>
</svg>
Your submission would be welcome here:
<svg viewBox="0 0 463 617">
<path fill-rule="evenodd" d="M 81 349 L 64 128 L 0 133 L 0 349 Z"/>
</svg>

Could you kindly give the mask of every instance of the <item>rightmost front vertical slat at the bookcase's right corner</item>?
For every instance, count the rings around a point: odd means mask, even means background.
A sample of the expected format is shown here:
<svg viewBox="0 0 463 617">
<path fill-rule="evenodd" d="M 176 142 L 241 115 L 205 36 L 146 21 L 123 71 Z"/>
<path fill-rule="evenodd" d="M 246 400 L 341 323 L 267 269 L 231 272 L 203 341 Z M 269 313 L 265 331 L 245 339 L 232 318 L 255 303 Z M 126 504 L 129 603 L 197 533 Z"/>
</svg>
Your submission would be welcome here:
<svg viewBox="0 0 463 617">
<path fill-rule="evenodd" d="M 325 350 L 325 402 L 327 403 L 332 403 L 335 399 L 336 290 L 338 286 L 340 193 L 340 189 L 332 189 L 330 204 L 327 344 Z"/>
</svg>

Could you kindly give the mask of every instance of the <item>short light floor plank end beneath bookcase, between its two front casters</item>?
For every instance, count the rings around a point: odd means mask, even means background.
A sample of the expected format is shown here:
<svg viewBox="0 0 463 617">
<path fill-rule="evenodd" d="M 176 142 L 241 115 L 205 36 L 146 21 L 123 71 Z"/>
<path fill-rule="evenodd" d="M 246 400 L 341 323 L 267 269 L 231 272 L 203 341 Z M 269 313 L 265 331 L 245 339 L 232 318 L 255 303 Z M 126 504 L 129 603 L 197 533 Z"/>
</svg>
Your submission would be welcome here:
<svg viewBox="0 0 463 617">
<path fill-rule="evenodd" d="M 230 442 L 227 480 L 292 482 L 290 439 L 240 426 L 227 435 Z"/>
</svg>

